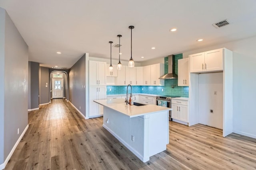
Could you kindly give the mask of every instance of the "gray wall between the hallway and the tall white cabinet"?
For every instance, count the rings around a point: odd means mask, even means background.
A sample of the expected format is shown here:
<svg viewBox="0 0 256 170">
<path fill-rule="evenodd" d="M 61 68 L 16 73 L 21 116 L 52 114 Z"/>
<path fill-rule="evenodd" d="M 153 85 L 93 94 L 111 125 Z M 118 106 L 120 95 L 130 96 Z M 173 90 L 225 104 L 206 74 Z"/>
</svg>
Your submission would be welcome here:
<svg viewBox="0 0 256 170">
<path fill-rule="evenodd" d="M 69 70 L 69 101 L 85 116 L 86 103 L 86 54 Z"/>
</svg>

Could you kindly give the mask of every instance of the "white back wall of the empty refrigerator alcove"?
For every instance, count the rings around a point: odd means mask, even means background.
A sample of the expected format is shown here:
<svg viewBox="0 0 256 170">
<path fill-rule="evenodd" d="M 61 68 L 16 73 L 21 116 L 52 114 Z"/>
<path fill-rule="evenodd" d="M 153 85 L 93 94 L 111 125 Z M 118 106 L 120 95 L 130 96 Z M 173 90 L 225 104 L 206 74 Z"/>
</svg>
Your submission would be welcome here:
<svg viewBox="0 0 256 170">
<path fill-rule="evenodd" d="M 214 95 L 214 92 L 217 92 Z M 223 128 L 223 73 L 199 74 L 199 123 Z M 210 109 L 213 113 L 210 113 Z"/>
</svg>

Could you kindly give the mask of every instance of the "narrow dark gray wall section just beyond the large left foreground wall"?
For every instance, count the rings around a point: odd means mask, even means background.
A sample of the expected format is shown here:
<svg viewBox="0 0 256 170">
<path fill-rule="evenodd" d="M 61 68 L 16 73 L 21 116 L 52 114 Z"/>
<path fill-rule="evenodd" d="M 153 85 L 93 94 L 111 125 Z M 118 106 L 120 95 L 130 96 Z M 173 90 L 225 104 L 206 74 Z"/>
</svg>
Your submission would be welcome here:
<svg viewBox="0 0 256 170">
<path fill-rule="evenodd" d="M 39 63 L 28 62 L 28 109 L 39 106 Z"/>
</svg>

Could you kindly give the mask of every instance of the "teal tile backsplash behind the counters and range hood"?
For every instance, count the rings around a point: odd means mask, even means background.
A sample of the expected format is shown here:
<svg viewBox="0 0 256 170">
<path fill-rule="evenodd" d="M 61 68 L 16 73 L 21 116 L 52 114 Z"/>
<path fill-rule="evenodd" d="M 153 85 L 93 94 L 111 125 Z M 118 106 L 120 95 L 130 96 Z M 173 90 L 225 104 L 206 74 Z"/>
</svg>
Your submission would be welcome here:
<svg viewBox="0 0 256 170">
<path fill-rule="evenodd" d="M 175 73 L 178 74 L 178 59 L 182 59 L 182 54 L 175 55 Z M 168 57 L 164 58 L 164 73 L 168 73 Z M 132 93 L 145 93 L 157 95 L 171 95 L 188 98 L 188 86 L 173 86 L 178 84 L 177 79 L 164 80 L 164 86 L 132 86 Z M 111 91 L 110 91 L 111 88 Z M 127 86 L 107 86 L 107 95 L 125 94 Z M 130 89 L 130 88 L 129 88 Z M 163 89 L 163 91 L 162 91 Z M 130 93 L 130 92 L 129 92 Z"/>
</svg>

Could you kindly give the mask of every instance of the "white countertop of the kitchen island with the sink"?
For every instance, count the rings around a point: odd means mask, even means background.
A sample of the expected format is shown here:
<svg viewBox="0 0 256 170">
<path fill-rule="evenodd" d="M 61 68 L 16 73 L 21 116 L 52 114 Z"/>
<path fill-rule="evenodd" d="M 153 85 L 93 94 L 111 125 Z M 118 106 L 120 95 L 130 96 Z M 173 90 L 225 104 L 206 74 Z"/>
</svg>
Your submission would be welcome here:
<svg viewBox="0 0 256 170">
<path fill-rule="evenodd" d="M 134 105 L 130 106 L 130 105 L 126 105 L 126 103 L 124 102 L 124 99 L 94 100 L 94 102 L 102 106 L 106 106 L 110 109 L 114 109 L 115 111 L 118 111 L 129 117 L 138 117 L 142 115 L 156 113 L 159 111 L 172 110 L 172 108 L 162 107 L 162 106 L 157 106 L 152 104 L 145 105 L 145 106 L 134 106 Z"/>
</svg>

